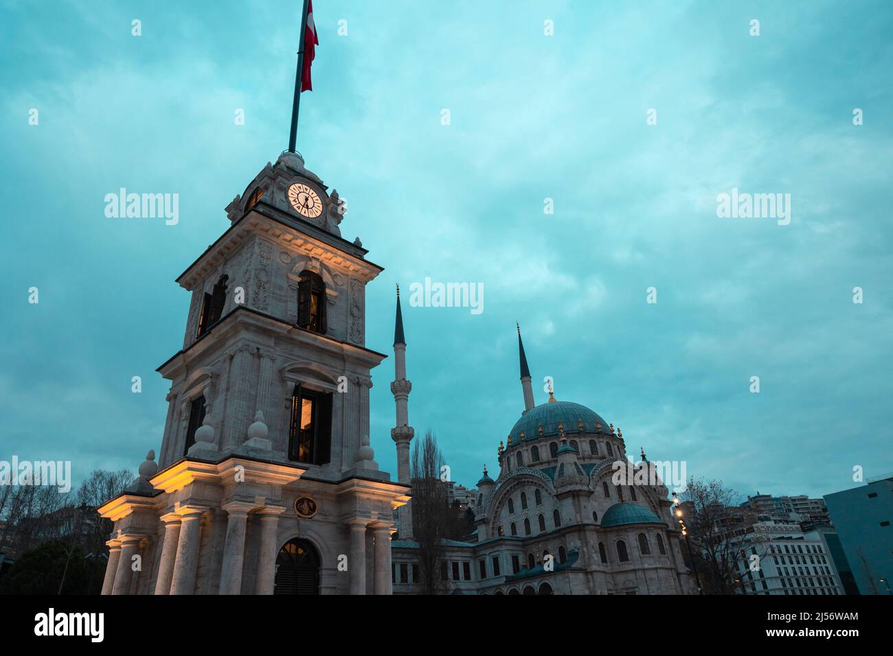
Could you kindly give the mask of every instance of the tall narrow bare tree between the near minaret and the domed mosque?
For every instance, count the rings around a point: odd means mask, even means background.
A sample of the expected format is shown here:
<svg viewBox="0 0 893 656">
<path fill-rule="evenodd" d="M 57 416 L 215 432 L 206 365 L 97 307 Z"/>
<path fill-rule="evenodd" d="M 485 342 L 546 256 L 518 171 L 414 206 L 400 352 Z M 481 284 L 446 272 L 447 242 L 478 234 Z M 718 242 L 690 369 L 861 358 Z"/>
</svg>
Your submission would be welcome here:
<svg viewBox="0 0 893 656">
<path fill-rule="evenodd" d="M 441 480 L 444 465 L 437 437 L 431 431 L 413 446 L 413 537 L 419 544 L 421 593 L 443 591 L 440 568 L 449 523 L 447 486 Z"/>
</svg>

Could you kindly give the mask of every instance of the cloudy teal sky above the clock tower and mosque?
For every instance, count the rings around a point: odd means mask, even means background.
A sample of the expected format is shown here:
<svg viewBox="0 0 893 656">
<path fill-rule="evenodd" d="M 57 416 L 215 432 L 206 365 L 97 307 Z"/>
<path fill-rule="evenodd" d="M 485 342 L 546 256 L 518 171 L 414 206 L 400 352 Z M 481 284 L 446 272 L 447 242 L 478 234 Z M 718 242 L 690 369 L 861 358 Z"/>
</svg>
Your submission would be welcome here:
<svg viewBox="0 0 893 656">
<path fill-rule="evenodd" d="M 0 2 L 0 459 L 79 480 L 160 446 L 174 278 L 288 145 L 298 4 Z M 555 378 L 630 453 L 744 494 L 893 470 L 893 5 L 314 5 L 298 150 L 385 267 L 367 345 L 392 353 L 396 282 L 484 285 L 480 315 L 404 307 L 410 422 L 455 480 L 495 471 L 520 416 L 515 320 L 537 402 Z M 179 224 L 106 219 L 120 187 L 178 193 Z M 732 187 L 789 193 L 790 225 L 717 218 Z M 394 473 L 392 378 L 371 442 Z"/>
</svg>

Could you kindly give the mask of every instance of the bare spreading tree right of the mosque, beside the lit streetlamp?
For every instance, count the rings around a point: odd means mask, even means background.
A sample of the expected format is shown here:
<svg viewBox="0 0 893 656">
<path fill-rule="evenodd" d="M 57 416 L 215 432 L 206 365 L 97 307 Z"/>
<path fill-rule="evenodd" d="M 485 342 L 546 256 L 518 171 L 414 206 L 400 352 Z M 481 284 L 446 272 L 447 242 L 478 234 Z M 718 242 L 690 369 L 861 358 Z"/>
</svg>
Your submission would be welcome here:
<svg viewBox="0 0 893 656">
<path fill-rule="evenodd" d="M 695 561 L 704 593 L 735 594 L 739 586 L 743 591 L 739 567 L 747 572 L 750 556 L 762 559 L 769 544 L 754 531 L 755 512 L 740 508 L 740 495 L 718 480 L 689 477 L 679 497 L 689 532 L 689 558 Z"/>
</svg>

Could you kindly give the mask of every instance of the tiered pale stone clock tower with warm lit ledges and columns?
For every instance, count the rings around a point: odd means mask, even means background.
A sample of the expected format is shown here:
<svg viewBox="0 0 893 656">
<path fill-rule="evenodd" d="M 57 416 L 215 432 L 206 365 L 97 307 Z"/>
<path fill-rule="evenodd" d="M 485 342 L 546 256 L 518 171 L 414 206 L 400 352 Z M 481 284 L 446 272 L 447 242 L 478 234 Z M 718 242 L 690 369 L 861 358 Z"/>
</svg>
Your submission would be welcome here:
<svg viewBox="0 0 893 656">
<path fill-rule="evenodd" d="M 177 278 L 192 295 L 157 464 L 99 510 L 104 594 L 390 594 L 409 486 L 369 445 L 365 286 L 346 204 L 287 152 L 226 207 Z M 140 555 L 142 571 L 130 567 Z M 346 565 L 346 567 L 344 567 Z"/>
</svg>

